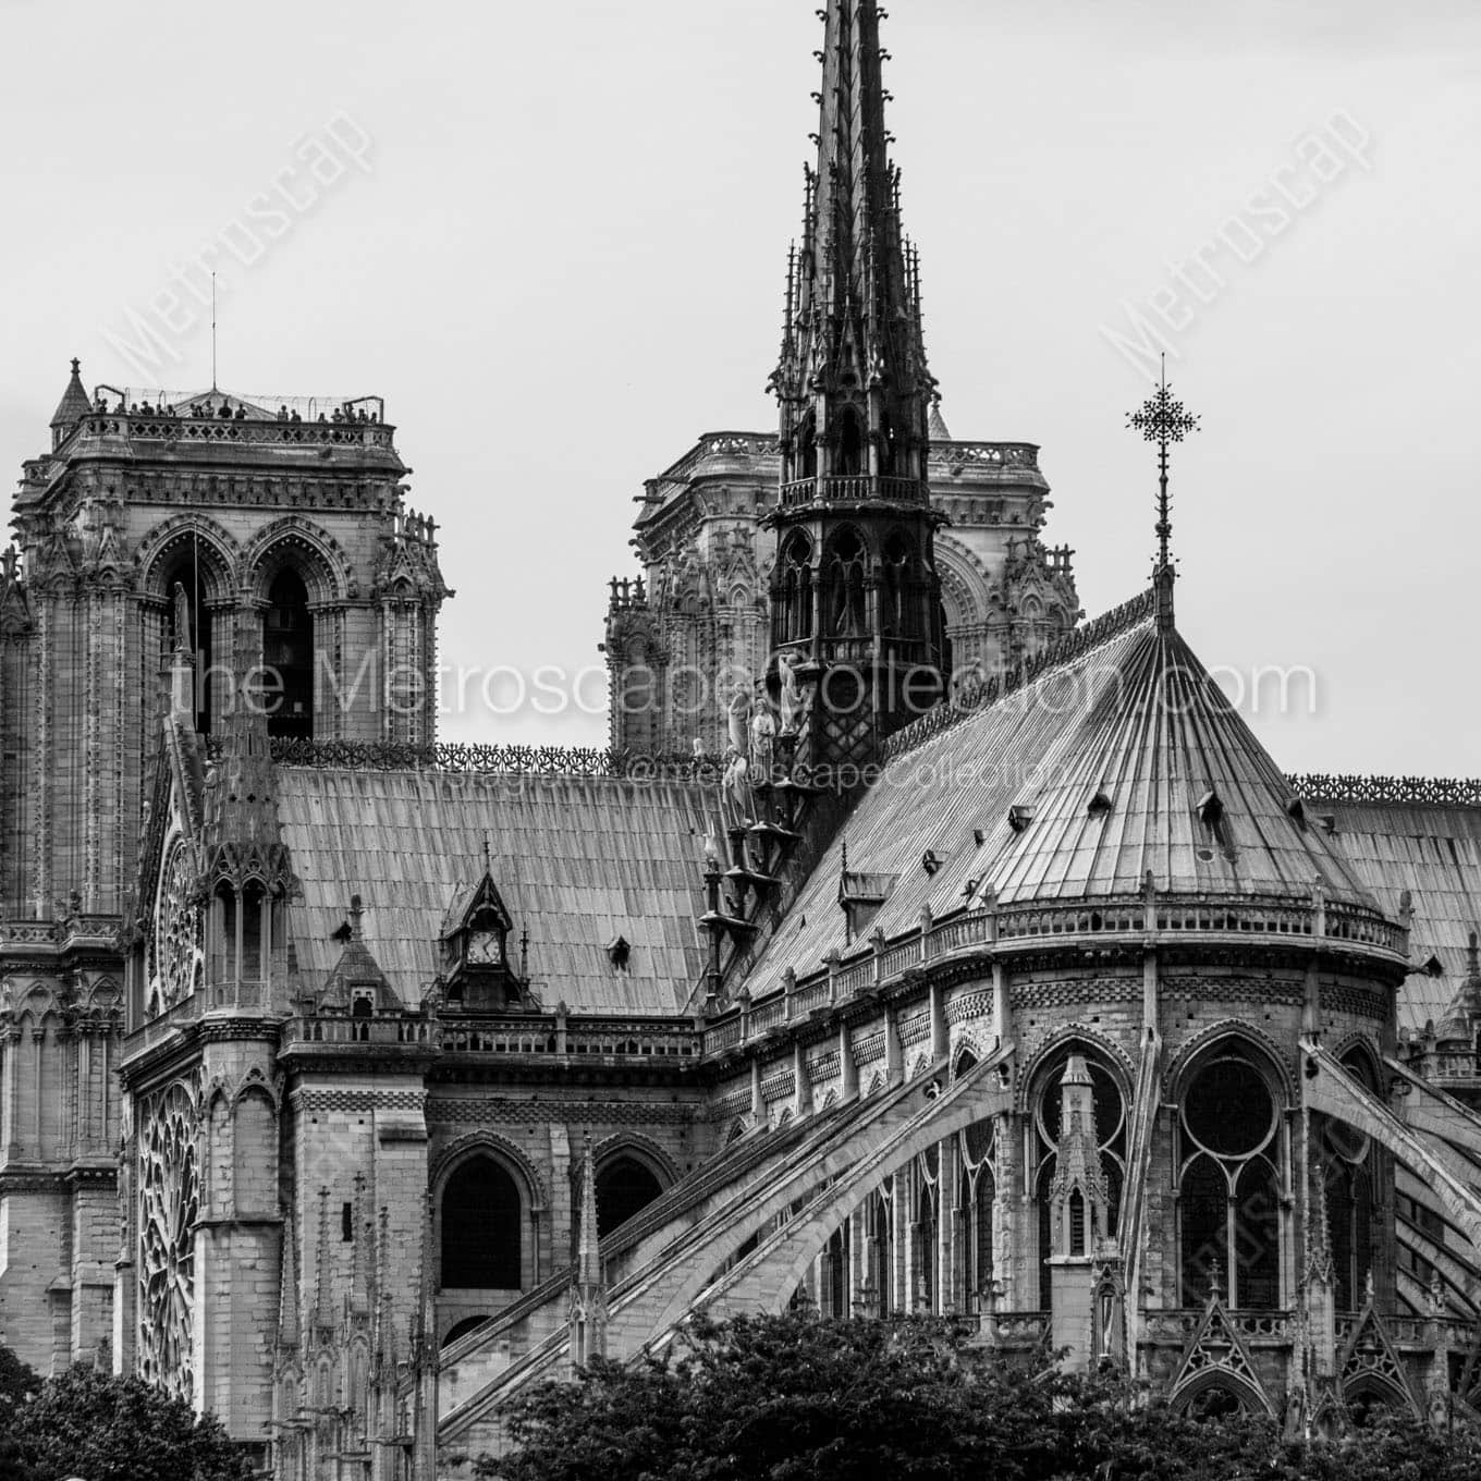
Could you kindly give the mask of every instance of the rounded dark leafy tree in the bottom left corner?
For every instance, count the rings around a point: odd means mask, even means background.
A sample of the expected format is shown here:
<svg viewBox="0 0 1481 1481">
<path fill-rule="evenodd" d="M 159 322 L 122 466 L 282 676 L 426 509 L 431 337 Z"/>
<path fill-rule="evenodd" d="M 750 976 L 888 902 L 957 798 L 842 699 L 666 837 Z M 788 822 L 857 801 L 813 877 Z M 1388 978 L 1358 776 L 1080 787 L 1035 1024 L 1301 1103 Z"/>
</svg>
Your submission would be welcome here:
<svg viewBox="0 0 1481 1481">
<path fill-rule="evenodd" d="M 39 1477 L 87 1481 L 249 1481 L 252 1466 L 215 1416 L 86 1363 L 47 1379 L 15 1417 Z M 3 1472 L 0 1472 L 3 1475 Z"/>
</svg>

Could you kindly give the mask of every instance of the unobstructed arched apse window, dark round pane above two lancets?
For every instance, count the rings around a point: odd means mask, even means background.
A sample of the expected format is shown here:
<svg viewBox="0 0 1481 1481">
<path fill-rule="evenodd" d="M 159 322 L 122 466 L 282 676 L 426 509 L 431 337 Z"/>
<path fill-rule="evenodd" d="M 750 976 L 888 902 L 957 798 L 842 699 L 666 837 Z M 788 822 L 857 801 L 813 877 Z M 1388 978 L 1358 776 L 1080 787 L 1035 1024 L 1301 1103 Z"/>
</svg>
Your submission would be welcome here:
<svg viewBox="0 0 1481 1481">
<path fill-rule="evenodd" d="M 1204 1063 L 1183 1096 L 1177 1186 L 1182 1303 L 1217 1280 L 1229 1306 L 1280 1305 L 1280 1117 L 1238 1050 Z"/>
</svg>

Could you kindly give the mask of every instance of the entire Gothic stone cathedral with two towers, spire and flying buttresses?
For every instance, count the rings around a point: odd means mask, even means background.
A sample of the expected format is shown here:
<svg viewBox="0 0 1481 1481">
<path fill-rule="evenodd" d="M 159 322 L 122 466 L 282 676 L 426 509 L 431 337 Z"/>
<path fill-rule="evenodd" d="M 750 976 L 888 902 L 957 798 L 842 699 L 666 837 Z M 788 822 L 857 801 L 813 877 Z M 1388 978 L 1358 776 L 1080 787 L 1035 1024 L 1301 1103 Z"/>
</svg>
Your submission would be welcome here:
<svg viewBox="0 0 1481 1481">
<path fill-rule="evenodd" d="M 1151 581 L 1084 619 L 1038 449 L 943 421 L 883 15 L 819 10 L 778 425 L 644 486 L 604 751 L 437 740 L 379 398 L 73 361 L 0 563 L 43 1373 L 277 1481 L 469 1475 L 699 1306 L 951 1314 L 1299 1437 L 1481 1417 L 1481 783 L 1291 778 L 1225 701 L 1166 385 Z"/>
</svg>

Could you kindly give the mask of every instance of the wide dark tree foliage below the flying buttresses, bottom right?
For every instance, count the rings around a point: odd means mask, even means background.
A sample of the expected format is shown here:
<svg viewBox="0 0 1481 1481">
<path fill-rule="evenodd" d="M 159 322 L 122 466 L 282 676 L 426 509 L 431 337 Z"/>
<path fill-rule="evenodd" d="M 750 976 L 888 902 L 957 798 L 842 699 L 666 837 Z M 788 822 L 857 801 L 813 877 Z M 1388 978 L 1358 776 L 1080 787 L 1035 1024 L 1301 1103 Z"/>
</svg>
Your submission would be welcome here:
<svg viewBox="0 0 1481 1481">
<path fill-rule="evenodd" d="M 1474 1481 L 1481 1442 L 1380 1411 L 1297 1445 L 1195 1420 L 1114 1377 L 1031 1373 L 946 1321 L 696 1320 L 662 1357 L 595 1361 L 509 1414 L 486 1481 Z"/>
</svg>

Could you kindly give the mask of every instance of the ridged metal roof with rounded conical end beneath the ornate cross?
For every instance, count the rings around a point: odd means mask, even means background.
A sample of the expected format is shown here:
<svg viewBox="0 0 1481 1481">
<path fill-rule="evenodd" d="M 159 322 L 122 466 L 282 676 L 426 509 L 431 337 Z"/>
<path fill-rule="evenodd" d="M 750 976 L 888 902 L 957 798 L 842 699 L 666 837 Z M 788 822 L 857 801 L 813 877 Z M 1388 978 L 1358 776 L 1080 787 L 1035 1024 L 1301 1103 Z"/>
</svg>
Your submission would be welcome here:
<svg viewBox="0 0 1481 1481">
<path fill-rule="evenodd" d="M 846 949 L 838 881 L 896 875 L 887 936 L 980 900 L 1160 892 L 1287 896 L 1371 906 L 1315 816 L 1290 809 L 1280 767 L 1155 613 L 1114 628 L 886 767 L 803 887 L 751 976 Z M 1200 804 L 1204 804 L 1203 807 Z M 932 857 L 927 859 L 927 855 Z"/>
</svg>

